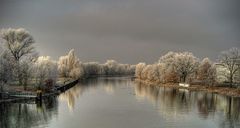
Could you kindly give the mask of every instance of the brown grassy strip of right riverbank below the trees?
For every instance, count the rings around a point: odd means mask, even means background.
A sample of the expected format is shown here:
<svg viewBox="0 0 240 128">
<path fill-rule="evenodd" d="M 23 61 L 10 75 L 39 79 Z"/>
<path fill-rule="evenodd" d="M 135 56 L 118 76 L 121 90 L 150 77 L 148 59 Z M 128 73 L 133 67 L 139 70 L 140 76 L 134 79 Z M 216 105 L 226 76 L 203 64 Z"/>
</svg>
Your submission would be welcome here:
<svg viewBox="0 0 240 128">
<path fill-rule="evenodd" d="M 135 79 L 136 82 L 142 83 L 146 86 L 161 86 L 175 89 L 187 89 L 189 91 L 205 91 L 208 93 L 217 93 L 225 96 L 240 97 L 240 89 L 230 88 L 230 87 L 219 87 L 219 86 L 203 86 L 203 85 L 190 85 L 189 87 L 181 87 L 178 83 L 167 83 L 167 84 L 157 84 L 150 81 L 143 81 L 140 79 Z"/>
</svg>

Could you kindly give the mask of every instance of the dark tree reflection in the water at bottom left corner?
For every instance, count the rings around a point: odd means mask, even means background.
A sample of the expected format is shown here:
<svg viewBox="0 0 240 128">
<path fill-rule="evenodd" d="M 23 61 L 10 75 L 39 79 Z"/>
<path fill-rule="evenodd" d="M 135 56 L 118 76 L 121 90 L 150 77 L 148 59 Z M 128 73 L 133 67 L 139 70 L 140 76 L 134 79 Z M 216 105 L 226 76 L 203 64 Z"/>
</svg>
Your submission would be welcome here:
<svg viewBox="0 0 240 128">
<path fill-rule="evenodd" d="M 47 124 L 57 115 L 56 98 L 45 99 L 42 106 L 27 103 L 0 104 L 1 128 L 31 128 Z"/>
</svg>

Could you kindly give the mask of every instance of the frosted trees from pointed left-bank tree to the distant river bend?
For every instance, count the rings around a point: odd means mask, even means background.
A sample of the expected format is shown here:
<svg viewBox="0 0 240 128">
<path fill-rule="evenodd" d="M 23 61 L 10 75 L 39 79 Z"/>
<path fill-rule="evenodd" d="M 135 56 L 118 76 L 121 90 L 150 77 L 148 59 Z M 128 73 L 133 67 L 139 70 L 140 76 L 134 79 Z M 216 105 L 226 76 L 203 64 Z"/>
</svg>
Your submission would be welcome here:
<svg viewBox="0 0 240 128">
<path fill-rule="evenodd" d="M 82 63 L 72 49 L 66 56 L 59 58 L 58 71 L 60 77 L 74 79 L 91 76 L 134 75 L 135 65 L 121 64 L 115 60 L 107 60 L 104 64 L 99 62 Z"/>
</svg>

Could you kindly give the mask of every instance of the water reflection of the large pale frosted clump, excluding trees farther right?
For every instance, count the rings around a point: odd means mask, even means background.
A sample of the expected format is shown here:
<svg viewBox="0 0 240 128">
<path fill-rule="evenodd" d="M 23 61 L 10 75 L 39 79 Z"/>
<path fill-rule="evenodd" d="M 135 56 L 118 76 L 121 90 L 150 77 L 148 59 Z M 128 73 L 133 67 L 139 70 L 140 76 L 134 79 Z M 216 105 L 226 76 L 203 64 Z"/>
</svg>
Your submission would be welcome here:
<svg viewBox="0 0 240 128">
<path fill-rule="evenodd" d="M 146 98 L 150 100 L 157 106 L 159 113 L 168 119 L 186 116 L 191 104 L 191 102 L 189 102 L 190 94 L 185 92 L 185 90 L 137 83 L 135 85 L 135 94 L 138 99 Z M 181 111 L 184 111 L 184 113 Z"/>
</svg>

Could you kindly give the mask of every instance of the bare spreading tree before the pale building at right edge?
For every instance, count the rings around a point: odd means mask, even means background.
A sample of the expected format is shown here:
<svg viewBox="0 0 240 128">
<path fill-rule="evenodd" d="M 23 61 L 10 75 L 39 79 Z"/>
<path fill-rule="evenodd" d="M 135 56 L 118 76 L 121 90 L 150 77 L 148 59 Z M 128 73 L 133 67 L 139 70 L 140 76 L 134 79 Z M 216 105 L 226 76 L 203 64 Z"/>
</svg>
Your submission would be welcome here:
<svg viewBox="0 0 240 128">
<path fill-rule="evenodd" d="M 219 56 L 221 66 L 229 71 L 227 78 L 229 80 L 230 86 L 232 86 L 234 82 L 234 76 L 240 69 L 239 60 L 240 50 L 238 48 L 231 48 L 228 51 L 223 51 Z"/>
</svg>

